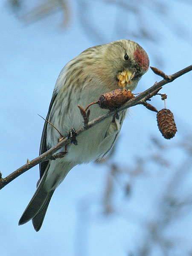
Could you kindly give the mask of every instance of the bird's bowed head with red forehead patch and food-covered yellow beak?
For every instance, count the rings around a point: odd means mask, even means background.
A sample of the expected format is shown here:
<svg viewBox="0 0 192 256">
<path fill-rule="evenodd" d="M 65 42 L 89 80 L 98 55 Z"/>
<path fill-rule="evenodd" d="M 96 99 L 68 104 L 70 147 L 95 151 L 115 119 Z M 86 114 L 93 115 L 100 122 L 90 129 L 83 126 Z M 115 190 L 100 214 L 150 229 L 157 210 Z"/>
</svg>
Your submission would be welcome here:
<svg viewBox="0 0 192 256">
<path fill-rule="evenodd" d="M 147 72 L 149 58 L 139 44 L 131 40 L 119 40 L 106 44 L 104 63 L 119 87 L 134 90 Z"/>
</svg>

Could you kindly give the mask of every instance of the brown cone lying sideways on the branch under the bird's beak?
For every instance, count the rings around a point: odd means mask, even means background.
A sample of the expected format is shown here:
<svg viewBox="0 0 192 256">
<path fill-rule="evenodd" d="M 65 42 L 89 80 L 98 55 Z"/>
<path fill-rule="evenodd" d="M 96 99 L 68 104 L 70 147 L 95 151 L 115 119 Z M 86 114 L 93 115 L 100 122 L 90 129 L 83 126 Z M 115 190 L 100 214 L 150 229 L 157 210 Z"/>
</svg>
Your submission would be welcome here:
<svg viewBox="0 0 192 256">
<path fill-rule="evenodd" d="M 114 110 L 132 98 L 134 98 L 134 95 L 130 90 L 116 89 L 109 93 L 103 93 L 99 97 L 98 104 L 100 108 Z"/>
</svg>

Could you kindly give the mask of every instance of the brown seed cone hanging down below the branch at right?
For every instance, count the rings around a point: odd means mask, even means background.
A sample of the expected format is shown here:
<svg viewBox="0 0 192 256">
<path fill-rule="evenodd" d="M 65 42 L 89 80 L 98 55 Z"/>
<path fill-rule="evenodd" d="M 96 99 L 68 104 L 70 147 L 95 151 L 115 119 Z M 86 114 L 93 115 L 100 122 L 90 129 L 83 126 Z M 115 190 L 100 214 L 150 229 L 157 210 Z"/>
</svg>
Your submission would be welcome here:
<svg viewBox="0 0 192 256">
<path fill-rule="evenodd" d="M 169 109 L 163 108 L 157 113 L 157 125 L 164 138 L 171 139 L 175 136 L 177 127 Z"/>
</svg>

